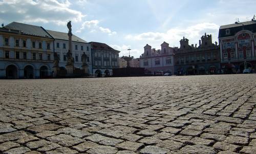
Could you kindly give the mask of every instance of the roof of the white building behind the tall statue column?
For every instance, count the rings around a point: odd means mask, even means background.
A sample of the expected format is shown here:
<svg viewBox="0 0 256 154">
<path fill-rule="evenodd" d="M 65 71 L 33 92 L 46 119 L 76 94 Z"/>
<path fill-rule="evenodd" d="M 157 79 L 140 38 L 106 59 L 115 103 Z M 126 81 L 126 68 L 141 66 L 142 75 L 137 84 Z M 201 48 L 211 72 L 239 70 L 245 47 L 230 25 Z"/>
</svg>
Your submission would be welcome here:
<svg viewBox="0 0 256 154">
<path fill-rule="evenodd" d="M 63 32 L 57 32 L 57 31 L 51 31 L 51 30 L 46 30 L 54 39 L 63 39 L 63 40 L 69 40 L 68 33 L 63 33 Z M 77 42 L 83 42 L 87 43 L 87 41 L 77 37 L 76 35 L 72 35 L 72 41 L 77 41 Z"/>
</svg>

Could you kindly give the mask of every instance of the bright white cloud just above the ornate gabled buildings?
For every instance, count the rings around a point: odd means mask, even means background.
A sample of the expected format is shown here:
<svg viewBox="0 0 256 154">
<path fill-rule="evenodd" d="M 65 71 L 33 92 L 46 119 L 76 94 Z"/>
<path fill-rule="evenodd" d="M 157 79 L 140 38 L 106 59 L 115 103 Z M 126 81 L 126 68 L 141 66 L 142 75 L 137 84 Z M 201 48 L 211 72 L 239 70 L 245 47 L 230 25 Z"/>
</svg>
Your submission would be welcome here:
<svg viewBox="0 0 256 154">
<path fill-rule="evenodd" d="M 175 46 L 179 45 L 179 40 L 182 37 L 186 37 L 190 40 L 190 43 L 197 42 L 201 36 L 206 32 L 207 34 L 212 34 L 214 36 L 213 42 L 218 37 L 219 25 L 214 23 L 201 23 L 187 28 L 172 28 L 165 33 L 160 32 L 145 32 L 137 35 L 127 35 L 125 38 L 129 40 L 144 40 L 149 42 L 166 41 L 170 42 Z M 149 42 L 145 42 L 149 43 Z"/>
</svg>

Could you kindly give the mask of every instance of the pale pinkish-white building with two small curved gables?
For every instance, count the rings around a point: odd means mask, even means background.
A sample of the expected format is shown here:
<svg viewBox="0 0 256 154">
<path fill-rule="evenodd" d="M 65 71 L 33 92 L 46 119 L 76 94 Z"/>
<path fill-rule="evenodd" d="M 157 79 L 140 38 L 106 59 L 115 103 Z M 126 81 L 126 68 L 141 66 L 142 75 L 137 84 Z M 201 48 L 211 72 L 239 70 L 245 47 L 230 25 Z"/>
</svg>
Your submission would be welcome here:
<svg viewBox="0 0 256 154">
<path fill-rule="evenodd" d="M 144 53 L 140 56 L 140 67 L 145 68 L 145 73 L 155 74 L 157 72 L 174 73 L 174 48 L 163 42 L 161 50 L 152 49 L 151 46 L 144 47 Z"/>
</svg>

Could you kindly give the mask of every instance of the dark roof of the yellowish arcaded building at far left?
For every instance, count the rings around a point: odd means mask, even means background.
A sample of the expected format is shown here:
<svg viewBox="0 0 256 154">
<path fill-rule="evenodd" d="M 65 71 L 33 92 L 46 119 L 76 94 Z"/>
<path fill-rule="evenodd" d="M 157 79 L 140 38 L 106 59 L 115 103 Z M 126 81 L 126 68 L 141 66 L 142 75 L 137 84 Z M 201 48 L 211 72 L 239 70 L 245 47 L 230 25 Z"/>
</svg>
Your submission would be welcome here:
<svg viewBox="0 0 256 154">
<path fill-rule="evenodd" d="M 26 35 L 33 35 L 33 36 L 40 36 L 40 37 L 47 37 L 52 38 L 44 28 L 34 25 L 28 25 L 23 23 L 12 22 L 5 26 L 6 28 L 19 30 L 20 33 Z"/>
</svg>

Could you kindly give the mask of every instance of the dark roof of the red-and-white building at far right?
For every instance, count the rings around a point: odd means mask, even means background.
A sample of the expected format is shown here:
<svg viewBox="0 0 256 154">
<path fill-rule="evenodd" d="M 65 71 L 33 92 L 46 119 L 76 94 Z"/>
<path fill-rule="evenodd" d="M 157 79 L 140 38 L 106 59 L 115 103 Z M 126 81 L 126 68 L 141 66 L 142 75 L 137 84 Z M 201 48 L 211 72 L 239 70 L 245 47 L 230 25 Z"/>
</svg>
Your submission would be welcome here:
<svg viewBox="0 0 256 154">
<path fill-rule="evenodd" d="M 226 29 L 230 30 L 228 35 L 226 35 Z M 256 20 L 221 26 L 219 30 L 219 37 L 234 36 L 242 30 L 248 30 L 252 33 L 256 33 Z"/>
</svg>

